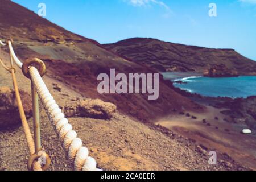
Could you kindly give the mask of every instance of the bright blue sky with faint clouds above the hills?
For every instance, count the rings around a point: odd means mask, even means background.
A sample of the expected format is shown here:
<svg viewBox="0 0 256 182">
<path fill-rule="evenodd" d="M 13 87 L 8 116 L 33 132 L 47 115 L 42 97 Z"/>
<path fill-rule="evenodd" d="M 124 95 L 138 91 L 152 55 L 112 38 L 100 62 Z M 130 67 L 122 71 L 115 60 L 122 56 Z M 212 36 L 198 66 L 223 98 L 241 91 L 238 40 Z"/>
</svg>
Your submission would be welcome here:
<svg viewBox="0 0 256 182">
<path fill-rule="evenodd" d="M 147 37 L 210 48 L 233 48 L 256 60 L 256 0 L 13 0 L 100 43 Z M 216 3 L 217 17 L 209 4 Z"/>
</svg>

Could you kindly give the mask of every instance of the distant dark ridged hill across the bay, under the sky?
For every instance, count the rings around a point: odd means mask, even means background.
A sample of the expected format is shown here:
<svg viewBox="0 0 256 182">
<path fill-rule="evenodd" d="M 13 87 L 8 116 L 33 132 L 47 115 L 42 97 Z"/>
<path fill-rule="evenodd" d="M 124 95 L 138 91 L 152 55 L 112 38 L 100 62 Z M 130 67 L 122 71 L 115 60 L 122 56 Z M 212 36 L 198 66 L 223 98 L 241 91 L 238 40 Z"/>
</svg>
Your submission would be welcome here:
<svg viewBox="0 0 256 182">
<path fill-rule="evenodd" d="M 233 49 L 211 49 L 163 42 L 157 39 L 133 38 L 106 48 L 160 72 L 199 72 L 224 64 L 240 75 L 256 75 L 256 62 L 240 55 Z"/>
</svg>

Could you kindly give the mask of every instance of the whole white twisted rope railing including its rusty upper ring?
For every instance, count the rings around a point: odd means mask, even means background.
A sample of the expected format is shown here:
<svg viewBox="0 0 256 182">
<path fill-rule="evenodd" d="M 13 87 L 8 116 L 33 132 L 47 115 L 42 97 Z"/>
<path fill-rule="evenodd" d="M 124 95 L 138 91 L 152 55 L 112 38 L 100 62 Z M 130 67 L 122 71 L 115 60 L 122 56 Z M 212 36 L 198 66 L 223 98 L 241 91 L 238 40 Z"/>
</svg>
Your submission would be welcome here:
<svg viewBox="0 0 256 182">
<path fill-rule="evenodd" d="M 88 148 L 82 146 L 82 140 L 77 138 L 76 131 L 72 130 L 72 125 L 68 123 L 68 119 L 65 118 L 65 115 L 44 83 L 41 77 L 43 75 L 43 67 L 45 68 L 43 61 L 35 58 L 22 63 L 15 55 L 11 40 L 7 40 L 7 44 L 9 45 L 10 55 L 14 58 L 15 63 L 19 68 L 22 68 L 24 75 L 31 79 L 73 168 L 77 171 L 101 170 L 96 168 L 96 161 L 89 156 Z M 39 71 L 35 65 L 39 67 Z M 34 159 L 38 159 L 38 156 L 35 156 Z M 39 166 L 38 162 L 35 163 L 33 168 L 36 168 L 36 166 Z"/>
</svg>

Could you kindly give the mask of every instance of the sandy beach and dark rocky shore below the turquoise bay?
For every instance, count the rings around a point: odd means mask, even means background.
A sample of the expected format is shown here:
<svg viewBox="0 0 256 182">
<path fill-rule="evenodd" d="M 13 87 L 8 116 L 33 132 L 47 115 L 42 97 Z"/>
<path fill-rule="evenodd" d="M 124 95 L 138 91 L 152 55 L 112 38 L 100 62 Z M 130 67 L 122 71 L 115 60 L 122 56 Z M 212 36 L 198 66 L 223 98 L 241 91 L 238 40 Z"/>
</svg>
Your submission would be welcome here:
<svg viewBox="0 0 256 182">
<path fill-rule="evenodd" d="M 217 150 L 255 170 L 256 114 L 253 113 L 256 113 L 256 96 L 205 97 L 176 88 L 173 82 L 171 83 L 177 93 L 207 109 L 200 113 L 172 113 L 166 118 L 159 119 L 155 124 L 195 141 L 207 151 Z M 247 128 L 251 129 L 252 133 L 242 134 L 242 130 Z M 247 150 L 244 151 L 244 148 Z"/>
</svg>

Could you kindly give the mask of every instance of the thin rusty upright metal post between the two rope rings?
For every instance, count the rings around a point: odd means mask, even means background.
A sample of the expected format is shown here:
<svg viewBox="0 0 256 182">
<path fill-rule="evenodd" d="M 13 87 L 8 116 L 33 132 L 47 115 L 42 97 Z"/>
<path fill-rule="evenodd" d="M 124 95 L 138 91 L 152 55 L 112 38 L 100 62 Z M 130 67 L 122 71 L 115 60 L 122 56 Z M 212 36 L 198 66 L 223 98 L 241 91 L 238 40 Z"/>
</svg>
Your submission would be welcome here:
<svg viewBox="0 0 256 182">
<path fill-rule="evenodd" d="M 41 146 L 41 131 L 40 131 L 40 118 L 39 118 L 39 98 L 35 86 L 31 81 L 32 93 L 32 107 L 33 107 L 33 122 L 34 122 L 34 140 L 35 140 L 35 153 L 42 149 Z"/>
</svg>

